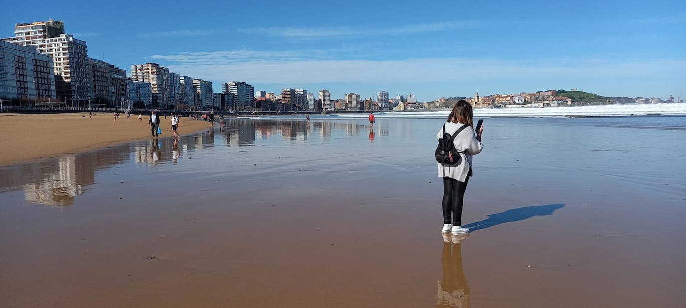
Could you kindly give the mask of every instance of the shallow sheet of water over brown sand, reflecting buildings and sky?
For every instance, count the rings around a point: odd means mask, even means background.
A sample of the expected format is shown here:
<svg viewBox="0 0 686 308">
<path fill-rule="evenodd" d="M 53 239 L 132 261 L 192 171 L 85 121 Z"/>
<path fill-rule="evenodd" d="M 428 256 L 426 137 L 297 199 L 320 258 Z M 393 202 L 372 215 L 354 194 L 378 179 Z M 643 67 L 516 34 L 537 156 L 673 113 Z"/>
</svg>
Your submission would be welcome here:
<svg viewBox="0 0 686 308">
<path fill-rule="evenodd" d="M 441 123 L 230 119 L 0 168 L 0 306 L 686 303 L 686 117 L 486 119 L 454 244 Z"/>
</svg>

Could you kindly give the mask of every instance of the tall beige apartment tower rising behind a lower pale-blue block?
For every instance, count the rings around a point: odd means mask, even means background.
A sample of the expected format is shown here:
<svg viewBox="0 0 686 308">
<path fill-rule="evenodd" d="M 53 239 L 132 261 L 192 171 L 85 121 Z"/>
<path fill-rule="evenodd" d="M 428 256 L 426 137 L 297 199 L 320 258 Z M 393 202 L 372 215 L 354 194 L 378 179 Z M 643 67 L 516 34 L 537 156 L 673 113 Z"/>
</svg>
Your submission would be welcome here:
<svg viewBox="0 0 686 308">
<path fill-rule="evenodd" d="M 152 85 L 152 106 L 171 107 L 169 99 L 169 68 L 156 63 L 134 64 L 131 66 L 131 78 Z"/>
</svg>

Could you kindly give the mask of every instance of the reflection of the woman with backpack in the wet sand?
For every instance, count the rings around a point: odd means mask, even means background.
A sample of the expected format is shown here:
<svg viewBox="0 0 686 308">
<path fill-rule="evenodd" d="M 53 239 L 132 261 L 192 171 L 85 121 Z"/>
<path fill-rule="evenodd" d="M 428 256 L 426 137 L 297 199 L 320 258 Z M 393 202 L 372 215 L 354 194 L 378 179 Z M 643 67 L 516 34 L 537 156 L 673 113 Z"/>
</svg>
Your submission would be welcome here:
<svg viewBox="0 0 686 308">
<path fill-rule="evenodd" d="M 460 241 L 466 235 L 444 235 L 441 264 L 443 268 L 442 280 L 438 282 L 436 307 L 469 307 L 469 287 L 462 269 L 462 248 Z"/>
</svg>

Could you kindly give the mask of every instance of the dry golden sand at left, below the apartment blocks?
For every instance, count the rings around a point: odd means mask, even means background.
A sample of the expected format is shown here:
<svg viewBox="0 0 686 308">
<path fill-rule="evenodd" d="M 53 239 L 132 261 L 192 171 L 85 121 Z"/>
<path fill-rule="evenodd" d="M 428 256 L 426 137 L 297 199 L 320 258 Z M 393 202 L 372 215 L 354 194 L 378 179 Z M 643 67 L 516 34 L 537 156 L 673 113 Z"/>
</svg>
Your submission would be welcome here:
<svg viewBox="0 0 686 308">
<path fill-rule="evenodd" d="M 0 166 L 32 159 L 78 153 L 102 146 L 150 137 L 147 116 L 130 120 L 121 114 L 0 114 Z M 161 137 L 174 136 L 171 117 L 161 117 Z M 192 133 L 209 128 L 209 123 L 181 118 L 178 132 Z"/>
</svg>

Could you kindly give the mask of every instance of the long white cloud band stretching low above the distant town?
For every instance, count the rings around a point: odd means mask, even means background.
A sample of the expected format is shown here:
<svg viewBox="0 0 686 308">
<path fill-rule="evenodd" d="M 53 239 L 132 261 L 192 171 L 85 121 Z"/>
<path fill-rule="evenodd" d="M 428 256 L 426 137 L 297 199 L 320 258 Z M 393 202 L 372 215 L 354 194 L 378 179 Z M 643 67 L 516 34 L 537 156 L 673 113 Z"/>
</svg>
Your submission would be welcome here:
<svg viewBox="0 0 686 308">
<path fill-rule="evenodd" d="M 202 57 L 202 56 L 201 56 Z M 167 59 L 171 60 L 171 59 Z M 512 79 L 624 79 L 642 78 L 652 72 L 678 75 L 686 60 L 477 60 L 458 57 L 406 60 L 252 59 L 213 64 L 176 59 L 171 70 L 209 80 L 246 80 L 260 84 L 316 84 L 357 82 L 387 84 L 432 81 L 506 81 Z"/>
</svg>

